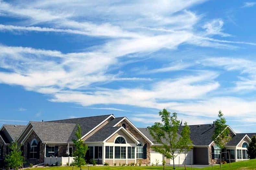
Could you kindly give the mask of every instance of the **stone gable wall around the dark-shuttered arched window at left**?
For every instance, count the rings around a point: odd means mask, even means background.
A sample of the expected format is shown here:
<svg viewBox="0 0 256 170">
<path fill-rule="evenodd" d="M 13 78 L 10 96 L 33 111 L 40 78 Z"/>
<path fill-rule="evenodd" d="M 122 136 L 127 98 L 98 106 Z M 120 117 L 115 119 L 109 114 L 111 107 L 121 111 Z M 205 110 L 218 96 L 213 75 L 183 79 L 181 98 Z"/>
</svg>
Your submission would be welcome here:
<svg viewBox="0 0 256 170">
<path fill-rule="evenodd" d="M 39 159 L 28 159 L 28 157 L 27 157 L 27 154 L 29 152 L 27 143 L 29 142 L 29 144 L 30 144 L 33 139 L 36 139 L 37 142 L 40 142 L 40 158 Z M 32 131 L 32 133 L 29 135 L 27 140 L 24 142 L 24 157 L 25 157 L 27 163 L 41 164 L 44 162 L 44 145 L 42 144 L 42 141 L 40 140 L 40 138 L 34 131 Z"/>
</svg>

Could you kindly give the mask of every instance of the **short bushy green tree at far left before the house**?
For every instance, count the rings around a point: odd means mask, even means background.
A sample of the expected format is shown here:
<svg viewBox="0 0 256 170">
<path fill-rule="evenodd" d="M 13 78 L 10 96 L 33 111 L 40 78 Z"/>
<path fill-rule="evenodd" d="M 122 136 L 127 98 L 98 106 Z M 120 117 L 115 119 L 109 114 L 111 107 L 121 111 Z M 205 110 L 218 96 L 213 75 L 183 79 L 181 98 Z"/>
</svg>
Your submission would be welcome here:
<svg viewBox="0 0 256 170">
<path fill-rule="evenodd" d="M 16 170 L 22 166 L 24 157 L 16 141 L 11 143 L 10 150 L 11 152 L 5 158 L 6 166 Z"/>
</svg>

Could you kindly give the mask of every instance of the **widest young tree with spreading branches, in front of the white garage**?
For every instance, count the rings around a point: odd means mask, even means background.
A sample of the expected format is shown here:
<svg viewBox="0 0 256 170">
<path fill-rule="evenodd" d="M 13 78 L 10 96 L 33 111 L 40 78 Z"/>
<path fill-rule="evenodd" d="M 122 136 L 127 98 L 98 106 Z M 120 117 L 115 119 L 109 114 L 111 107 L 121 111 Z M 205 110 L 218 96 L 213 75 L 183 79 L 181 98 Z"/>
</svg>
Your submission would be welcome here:
<svg viewBox="0 0 256 170">
<path fill-rule="evenodd" d="M 174 158 L 183 152 L 183 139 L 189 136 L 189 131 L 182 129 L 181 137 L 178 135 L 180 121 L 177 119 L 177 113 L 172 115 L 166 109 L 159 112 L 162 123 L 155 123 L 149 128 L 150 135 L 160 146 L 152 146 L 152 149 L 168 159 L 173 160 L 173 169 L 175 169 Z"/>
</svg>

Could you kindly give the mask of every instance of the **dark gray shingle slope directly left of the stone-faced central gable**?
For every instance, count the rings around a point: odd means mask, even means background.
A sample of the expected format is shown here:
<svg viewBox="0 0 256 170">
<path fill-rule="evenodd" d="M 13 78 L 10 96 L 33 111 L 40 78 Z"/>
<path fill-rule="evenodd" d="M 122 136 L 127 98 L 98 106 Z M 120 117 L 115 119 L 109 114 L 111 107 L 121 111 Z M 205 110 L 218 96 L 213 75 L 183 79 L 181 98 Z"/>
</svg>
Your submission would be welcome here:
<svg viewBox="0 0 256 170">
<path fill-rule="evenodd" d="M 107 139 L 111 134 L 113 134 L 120 127 L 113 127 L 113 125 L 117 124 L 124 117 L 117 117 L 111 120 L 108 124 L 106 124 L 103 128 L 99 129 L 95 134 L 90 136 L 85 142 L 102 142 Z"/>
</svg>

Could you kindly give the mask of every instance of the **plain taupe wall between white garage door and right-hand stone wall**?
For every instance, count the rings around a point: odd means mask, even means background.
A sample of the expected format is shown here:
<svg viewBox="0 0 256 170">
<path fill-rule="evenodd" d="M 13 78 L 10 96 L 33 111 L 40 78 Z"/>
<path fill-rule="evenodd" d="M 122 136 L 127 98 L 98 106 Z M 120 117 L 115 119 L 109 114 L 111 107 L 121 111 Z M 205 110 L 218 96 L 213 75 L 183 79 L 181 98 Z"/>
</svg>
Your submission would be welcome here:
<svg viewBox="0 0 256 170">
<path fill-rule="evenodd" d="M 193 162 L 194 164 L 208 165 L 208 147 L 194 147 L 193 148 Z"/>
</svg>

